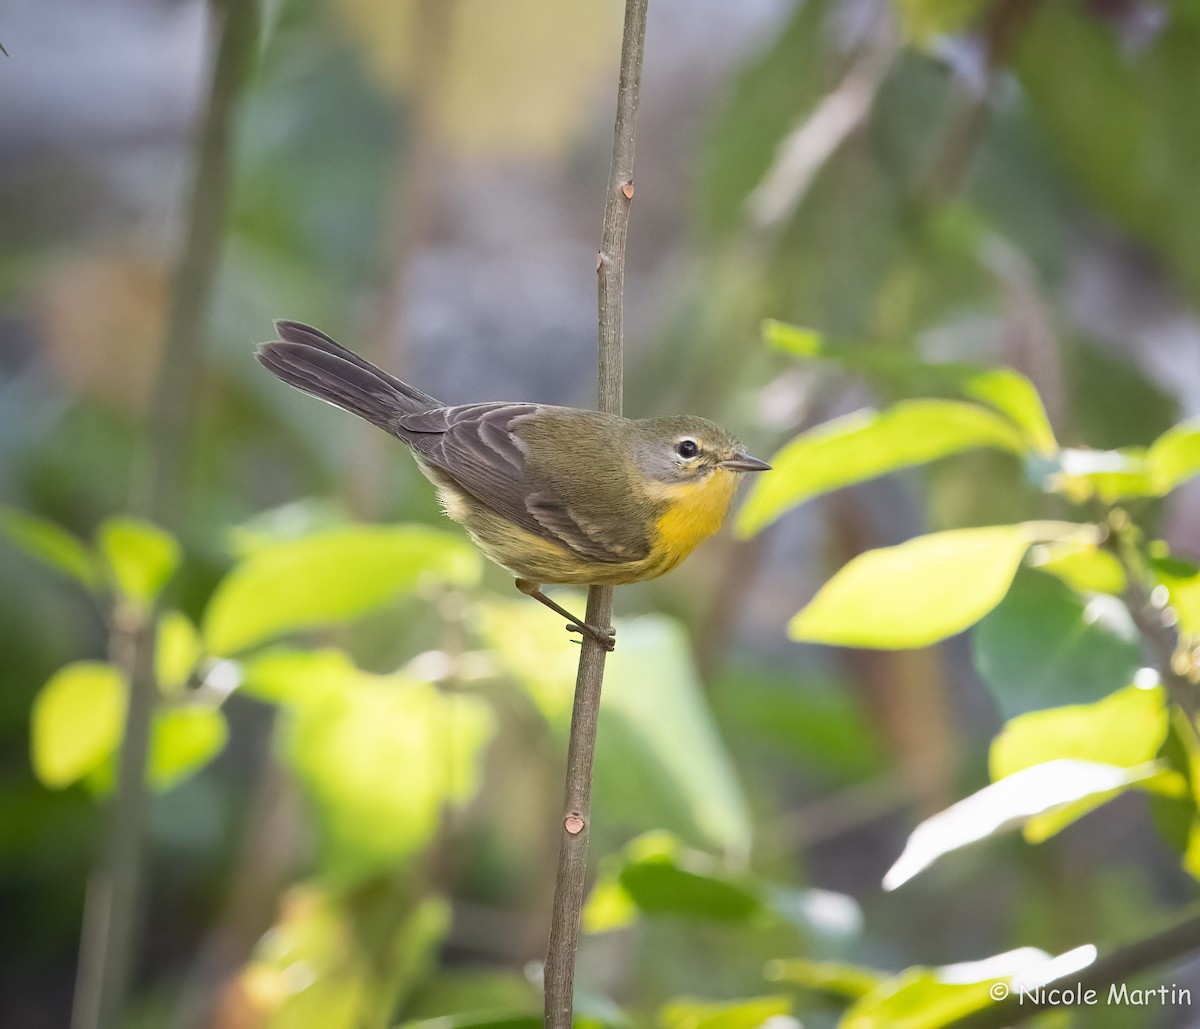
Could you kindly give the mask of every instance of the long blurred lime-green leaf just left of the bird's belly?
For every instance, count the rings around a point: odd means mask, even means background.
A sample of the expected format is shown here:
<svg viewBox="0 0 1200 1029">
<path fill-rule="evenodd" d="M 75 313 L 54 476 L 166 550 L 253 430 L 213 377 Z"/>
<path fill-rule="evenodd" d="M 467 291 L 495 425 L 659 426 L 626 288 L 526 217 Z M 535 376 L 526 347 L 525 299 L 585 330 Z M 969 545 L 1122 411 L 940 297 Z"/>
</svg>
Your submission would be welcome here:
<svg viewBox="0 0 1200 1029">
<path fill-rule="evenodd" d="M 425 580 L 469 585 L 480 558 L 461 536 L 355 525 L 256 550 L 221 580 L 204 618 L 214 654 L 359 618 Z"/>
</svg>

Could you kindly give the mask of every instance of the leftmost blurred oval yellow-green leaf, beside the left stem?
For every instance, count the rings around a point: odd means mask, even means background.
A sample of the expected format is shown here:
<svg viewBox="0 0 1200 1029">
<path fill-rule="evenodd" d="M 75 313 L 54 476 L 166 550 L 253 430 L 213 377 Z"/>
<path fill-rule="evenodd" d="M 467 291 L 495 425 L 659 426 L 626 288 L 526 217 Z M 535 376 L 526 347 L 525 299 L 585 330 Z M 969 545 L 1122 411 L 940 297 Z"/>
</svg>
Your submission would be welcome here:
<svg viewBox="0 0 1200 1029">
<path fill-rule="evenodd" d="M 121 742 L 125 678 L 112 664 L 80 661 L 60 668 L 34 700 L 34 771 L 60 789 L 78 781 Z"/>
</svg>

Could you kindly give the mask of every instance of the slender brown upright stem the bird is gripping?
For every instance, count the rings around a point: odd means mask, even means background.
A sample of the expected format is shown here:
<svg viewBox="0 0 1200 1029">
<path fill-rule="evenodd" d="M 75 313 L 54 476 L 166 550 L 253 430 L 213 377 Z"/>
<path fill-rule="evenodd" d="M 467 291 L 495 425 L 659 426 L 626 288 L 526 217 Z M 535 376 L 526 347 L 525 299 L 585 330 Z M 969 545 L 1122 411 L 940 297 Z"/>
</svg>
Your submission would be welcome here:
<svg viewBox="0 0 1200 1029">
<path fill-rule="evenodd" d="M 649 0 L 625 0 L 625 31 L 620 44 L 617 121 L 605 201 L 604 233 L 596 260 L 599 278 L 598 402 L 600 410 L 619 415 L 622 407 L 622 301 L 625 282 L 625 234 L 634 199 L 634 137 L 637 92 L 646 49 L 646 12 Z M 588 590 L 587 621 L 606 626 L 612 619 L 612 586 Z M 583 633 L 575 678 L 575 706 L 566 752 L 566 792 L 563 837 L 554 880 L 554 908 L 546 951 L 546 1019 L 551 1029 L 569 1029 L 575 993 L 575 950 L 580 940 L 580 913 L 588 863 L 592 811 L 592 762 L 595 754 L 600 687 L 606 651 Z"/>
</svg>

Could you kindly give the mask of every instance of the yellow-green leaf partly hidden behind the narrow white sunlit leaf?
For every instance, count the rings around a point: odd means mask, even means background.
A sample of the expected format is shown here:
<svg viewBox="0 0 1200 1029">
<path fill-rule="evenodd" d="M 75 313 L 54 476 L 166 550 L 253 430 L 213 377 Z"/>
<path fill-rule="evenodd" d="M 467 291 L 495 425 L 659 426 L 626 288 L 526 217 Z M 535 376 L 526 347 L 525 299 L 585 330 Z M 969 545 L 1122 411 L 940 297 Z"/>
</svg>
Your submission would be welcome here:
<svg viewBox="0 0 1200 1029">
<path fill-rule="evenodd" d="M 1031 711 L 1013 718 L 992 741 L 989 766 L 992 781 L 1063 758 L 1144 770 L 1166 739 L 1163 690 L 1127 686 L 1096 704 L 1074 704 Z M 1139 776 L 1153 788 L 1154 780 Z M 1130 783 L 1124 783 L 1128 786 Z M 1165 783 L 1159 783 L 1160 786 Z M 1114 793 L 1093 793 L 1057 811 L 1031 818 L 1025 838 L 1040 843 L 1088 811 L 1106 804 Z"/>
</svg>

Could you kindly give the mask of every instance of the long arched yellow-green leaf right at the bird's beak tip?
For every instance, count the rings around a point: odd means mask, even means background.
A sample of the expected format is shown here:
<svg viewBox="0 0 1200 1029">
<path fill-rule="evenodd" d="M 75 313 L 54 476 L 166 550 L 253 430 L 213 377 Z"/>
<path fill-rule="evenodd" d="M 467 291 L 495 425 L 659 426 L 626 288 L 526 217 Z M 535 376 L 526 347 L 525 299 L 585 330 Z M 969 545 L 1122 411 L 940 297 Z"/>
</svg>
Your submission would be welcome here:
<svg viewBox="0 0 1200 1029">
<path fill-rule="evenodd" d="M 736 530 L 752 536 L 796 505 L 974 447 L 1025 453 L 1007 419 L 960 401 L 902 401 L 886 411 L 859 411 L 803 433 L 770 458 L 738 513 Z"/>
</svg>

